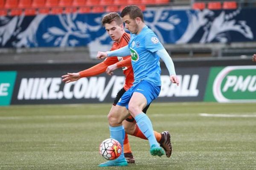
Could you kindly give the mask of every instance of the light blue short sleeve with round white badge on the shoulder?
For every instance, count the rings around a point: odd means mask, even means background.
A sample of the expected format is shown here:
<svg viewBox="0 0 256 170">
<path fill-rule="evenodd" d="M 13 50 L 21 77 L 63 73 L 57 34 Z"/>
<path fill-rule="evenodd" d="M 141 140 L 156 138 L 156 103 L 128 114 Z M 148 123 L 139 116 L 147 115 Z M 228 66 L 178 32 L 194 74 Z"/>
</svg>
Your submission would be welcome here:
<svg viewBox="0 0 256 170">
<path fill-rule="evenodd" d="M 145 48 L 154 53 L 164 47 L 155 34 L 149 34 L 145 37 Z"/>
</svg>

